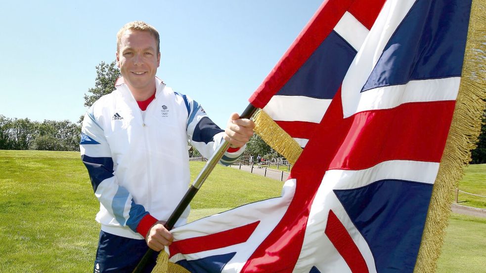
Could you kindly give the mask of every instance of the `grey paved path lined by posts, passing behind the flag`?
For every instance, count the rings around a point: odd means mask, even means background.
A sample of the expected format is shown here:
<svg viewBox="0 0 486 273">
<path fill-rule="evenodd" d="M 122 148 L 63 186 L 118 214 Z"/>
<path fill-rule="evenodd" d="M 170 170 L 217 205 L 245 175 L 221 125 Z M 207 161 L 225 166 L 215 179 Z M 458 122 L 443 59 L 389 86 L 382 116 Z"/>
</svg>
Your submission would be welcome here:
<svg viewBox="0 0 486 273">
<path fill-rule="evenodd" d="M 248 165 L 241 165 L 241 166 L 240 165 L 231 165 L 231 168 L 241 169 L 241 170 L 244 170 L 244 171 L 247 171 L 247 172 L 252 172 L 252 173 L 255 173 L 255 174 L 262 175 L 262 176 L 265 175 L 265 168 L 258 168 L 256 165 L 253 167 L 253 170 L 252 170 L 251 166 L 248 166 Z M 265 176 L 269 177 L 269 178 L 276 179 L 276 180 L 280 180 L 280 181 L 286 181 L 287 178 L 289 177 L 289 172 L 284 171 L 283 177 L 282 177 L 282 171 L 267 168 Z M 451 209 L 452 209 L 452 212 L 454 212 L 454 213 L 486 218 L 486 209 L 462 206 L 462 205 L 459 205 L 459 204 L 452 204 Z"/>
</svg>

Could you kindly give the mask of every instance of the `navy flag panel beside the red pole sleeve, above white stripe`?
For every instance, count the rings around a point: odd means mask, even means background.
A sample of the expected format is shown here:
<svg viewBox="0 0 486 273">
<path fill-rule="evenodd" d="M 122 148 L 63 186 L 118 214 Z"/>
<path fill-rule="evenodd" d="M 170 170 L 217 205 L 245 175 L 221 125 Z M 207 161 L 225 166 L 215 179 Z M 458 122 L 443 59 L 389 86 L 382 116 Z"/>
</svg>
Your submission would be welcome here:
<svg viewBox="0 0 486 273">
<path fill-rule="evenodd" d="M 355 55 L 356 50 L 332 31 L 276 95 L 334 98 Z"/>
</svg>

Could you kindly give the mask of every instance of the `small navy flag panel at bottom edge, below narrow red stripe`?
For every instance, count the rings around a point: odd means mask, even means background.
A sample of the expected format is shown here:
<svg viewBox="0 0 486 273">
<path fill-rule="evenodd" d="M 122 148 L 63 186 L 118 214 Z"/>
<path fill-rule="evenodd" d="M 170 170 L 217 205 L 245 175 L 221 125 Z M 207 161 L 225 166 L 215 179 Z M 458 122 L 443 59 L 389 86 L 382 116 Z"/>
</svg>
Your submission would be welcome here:
<svg viewBox="0 0 486 273">
<path fill-rule="evenodd" d="M 180 260 L 176 264 L 191 273 L 220 273 L 223 267 L 233 258 L 236 252 L 209 256 L 198 260 Z"/>
</svg>

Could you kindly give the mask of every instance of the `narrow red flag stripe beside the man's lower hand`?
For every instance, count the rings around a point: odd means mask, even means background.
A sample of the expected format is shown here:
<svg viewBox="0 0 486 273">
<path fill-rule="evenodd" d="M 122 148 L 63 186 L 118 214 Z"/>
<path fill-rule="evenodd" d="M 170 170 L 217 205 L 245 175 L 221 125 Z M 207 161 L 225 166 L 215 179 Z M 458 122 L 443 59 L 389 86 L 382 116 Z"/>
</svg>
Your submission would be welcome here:
<svg viewBox="0 0 486 273">
<path fill-rule="evenodd" d="M 258 224 L 260 221 L 215 234 L 175 241 L 169 246 L 170 257 L 178 253 L 191 254 L 246 242 Z"/>
</svg>

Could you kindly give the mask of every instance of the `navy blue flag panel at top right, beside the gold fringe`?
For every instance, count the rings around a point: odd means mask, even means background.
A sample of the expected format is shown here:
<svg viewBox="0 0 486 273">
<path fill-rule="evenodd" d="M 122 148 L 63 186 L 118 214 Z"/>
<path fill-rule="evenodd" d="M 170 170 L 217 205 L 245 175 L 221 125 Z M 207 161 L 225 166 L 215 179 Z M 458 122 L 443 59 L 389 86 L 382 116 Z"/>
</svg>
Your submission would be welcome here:
<svg viewBox="0 0 486 273">
<path fill-rule="evenodd" d="M 461 75 L 471 1 L 417 0 L 361 92 L 413 79 Z"/>
</svg>

